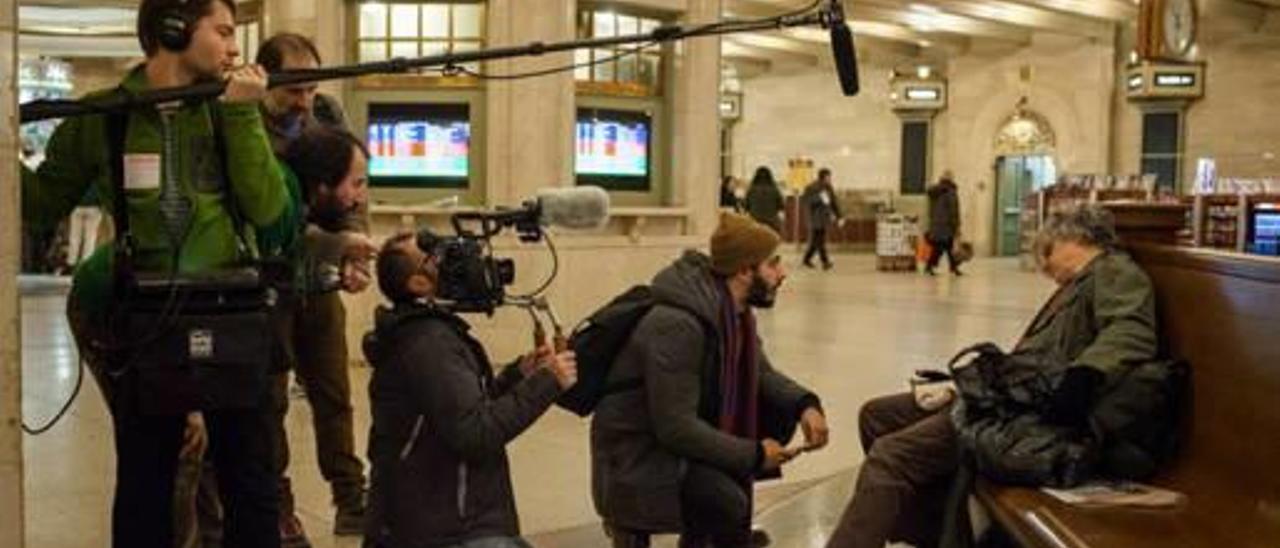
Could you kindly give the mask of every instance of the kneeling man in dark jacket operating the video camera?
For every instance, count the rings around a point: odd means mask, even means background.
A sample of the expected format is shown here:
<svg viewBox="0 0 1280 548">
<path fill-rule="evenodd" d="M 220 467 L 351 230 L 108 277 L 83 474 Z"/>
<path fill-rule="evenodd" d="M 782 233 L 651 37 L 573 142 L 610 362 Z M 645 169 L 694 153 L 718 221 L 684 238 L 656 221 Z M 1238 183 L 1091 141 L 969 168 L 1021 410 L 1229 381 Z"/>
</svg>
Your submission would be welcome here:
<svg viewBox="0 0 1280 548">
<path fill-rule="evenodd" d="M 366 545 L 527 547 L 506 446 L 577 382 L 575 356 L 541 347 L 495 376 L 466 321 L 436 301 L 439 261 L 408 233 L 378 256 L 392 307 L 378 310 L 365 338 L 374 366 Z"/>
</svg>

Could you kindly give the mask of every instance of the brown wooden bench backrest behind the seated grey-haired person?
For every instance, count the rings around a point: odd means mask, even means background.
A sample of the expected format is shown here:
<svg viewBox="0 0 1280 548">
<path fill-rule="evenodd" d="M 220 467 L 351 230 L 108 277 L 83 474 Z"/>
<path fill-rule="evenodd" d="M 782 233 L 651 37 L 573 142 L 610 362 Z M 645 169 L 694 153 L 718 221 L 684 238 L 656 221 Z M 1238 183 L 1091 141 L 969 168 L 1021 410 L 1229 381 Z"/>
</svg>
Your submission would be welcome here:
<svg viewBox="0 0 1280 548">
<path fill-rule="evenodd" d="M 1144 243 L 1132 252 L 1155 284 L 1162 343 L 1192 367 L 1184 446 L 1161 483 L 1275 511 L 1280 260 Z"/>
</svg>

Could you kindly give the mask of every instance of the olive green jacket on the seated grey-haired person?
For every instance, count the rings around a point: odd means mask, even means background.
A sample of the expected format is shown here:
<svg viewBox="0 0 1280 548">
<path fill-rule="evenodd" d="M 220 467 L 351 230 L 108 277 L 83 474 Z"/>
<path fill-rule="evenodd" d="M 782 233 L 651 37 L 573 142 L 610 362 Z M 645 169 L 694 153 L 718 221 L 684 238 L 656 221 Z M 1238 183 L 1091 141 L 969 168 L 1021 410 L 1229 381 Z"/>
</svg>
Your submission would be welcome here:
<svg viewBox="0 0 1280 548">
<path fill-rule="evenodd" d="M 1117 251 L 1093 260 L 1041 309 L 1018 350 L 1048 351 L 1107 375 L 1156 359 L 1156 294 L 1147 273 Z"/>
</svg>

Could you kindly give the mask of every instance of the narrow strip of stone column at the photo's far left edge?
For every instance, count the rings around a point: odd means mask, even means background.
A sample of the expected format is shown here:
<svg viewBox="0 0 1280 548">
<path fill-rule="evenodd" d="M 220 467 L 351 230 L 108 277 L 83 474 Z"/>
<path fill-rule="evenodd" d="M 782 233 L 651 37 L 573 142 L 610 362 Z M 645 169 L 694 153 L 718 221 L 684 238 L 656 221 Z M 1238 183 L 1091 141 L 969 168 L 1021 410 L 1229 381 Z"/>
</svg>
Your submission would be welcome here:
<svg viewBox="0 0 1280 548">
<path fill-rule="evenodd" d="M 0 0 L 0 545 L 23 545 L 22 338 L 18 334 L 18 3 Z"/>
</svg>

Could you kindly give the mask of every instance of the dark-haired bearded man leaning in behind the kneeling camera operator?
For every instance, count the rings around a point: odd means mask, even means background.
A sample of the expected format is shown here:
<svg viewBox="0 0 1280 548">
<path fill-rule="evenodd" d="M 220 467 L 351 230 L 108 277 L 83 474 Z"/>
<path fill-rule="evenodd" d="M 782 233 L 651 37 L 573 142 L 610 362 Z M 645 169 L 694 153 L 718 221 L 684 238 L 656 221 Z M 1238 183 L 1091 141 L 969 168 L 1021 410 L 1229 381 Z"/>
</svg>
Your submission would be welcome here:
<svg viewBox="0 0 1280 548">
<path fill-rule="evenodd" d="M 280 298 L 276 328 L 283 360 L 271 379 L 274 470 L 280 489 L 282 545 L 306 547 L 306 534 L 294 513 L 284 419 L 288 412 L 285 371 L 293 369 L 311 405 L 320 474 L 330 485 L 334 533 L 360 535 L 365 516 L 365 470 L 355 449 L 351 380 L 347 373 L 346 310 L 338 291 L 364 291 L 371 274 L 371 243 L 364 234 L 344 234 L 346 219 L 367 201 L 369 152 L 355 136 L 312 125 L 284 152 L 297 177 L 296 200 L 305 204 L 293 225 L 275 234 L 260 233 L 269 252 L 289 257 L 297 270 L 296 288 Z M 320 234 L 317 234 L 317 232 Z M 339 237 L 334 237 L 338 234 Z"/>
</svg>

